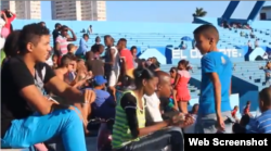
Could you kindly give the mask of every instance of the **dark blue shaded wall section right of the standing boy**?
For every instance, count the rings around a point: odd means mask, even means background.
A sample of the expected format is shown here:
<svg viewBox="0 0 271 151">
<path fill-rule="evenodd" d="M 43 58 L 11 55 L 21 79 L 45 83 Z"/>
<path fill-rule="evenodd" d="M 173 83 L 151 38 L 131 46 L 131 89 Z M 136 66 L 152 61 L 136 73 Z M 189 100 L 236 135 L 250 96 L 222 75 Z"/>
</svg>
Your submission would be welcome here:
<svg viewBox="0 0 271 151">
<path fill-rule="evenodd" d="M 247 101 L 251 101 L 250 111 L 256 111 L 258 109 L 258 86 L 232 76 L 232 93 L 240 95 L 240 108 L 243 109 Z"/>
</svg>

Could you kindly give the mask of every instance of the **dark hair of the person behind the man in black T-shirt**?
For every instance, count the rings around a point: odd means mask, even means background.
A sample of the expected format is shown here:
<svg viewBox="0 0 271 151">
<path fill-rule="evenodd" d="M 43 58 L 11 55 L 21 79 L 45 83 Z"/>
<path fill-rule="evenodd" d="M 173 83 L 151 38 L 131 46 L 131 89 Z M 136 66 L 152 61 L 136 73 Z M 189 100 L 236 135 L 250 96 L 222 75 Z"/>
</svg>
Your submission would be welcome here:
<svg viewBox="0 0 271 151">
<path fill-rule="evenodd" d="M 3 51 L 7 56 L 15 56 L 17 55 L 18 51 L 18 37 L 20 37 L 21 30 L 14 30 L 11 33 L 4 42 Z"/>
</svg>

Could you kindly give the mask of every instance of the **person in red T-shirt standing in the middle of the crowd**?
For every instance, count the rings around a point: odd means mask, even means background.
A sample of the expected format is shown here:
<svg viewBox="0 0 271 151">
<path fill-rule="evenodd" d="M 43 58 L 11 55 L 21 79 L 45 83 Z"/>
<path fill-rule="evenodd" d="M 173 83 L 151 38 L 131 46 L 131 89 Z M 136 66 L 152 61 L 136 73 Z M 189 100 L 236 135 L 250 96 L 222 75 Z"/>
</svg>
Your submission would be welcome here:
<svg viewBox="0 0 271 151">
<path fill-rule="evenodd" d="M 125 38 L 120 38 L 117 43 L 117 48 L 119 51 L 119 55 L 125 61 L 124 65 L 124 71 L 125 75 L 129 76 L 130 78 L 133 78 L 132 72 L 134 70 L 134 64 L 133 64 L 133 56 L 130 50 L 126 48 L 127 40 Z"/>
</svg>

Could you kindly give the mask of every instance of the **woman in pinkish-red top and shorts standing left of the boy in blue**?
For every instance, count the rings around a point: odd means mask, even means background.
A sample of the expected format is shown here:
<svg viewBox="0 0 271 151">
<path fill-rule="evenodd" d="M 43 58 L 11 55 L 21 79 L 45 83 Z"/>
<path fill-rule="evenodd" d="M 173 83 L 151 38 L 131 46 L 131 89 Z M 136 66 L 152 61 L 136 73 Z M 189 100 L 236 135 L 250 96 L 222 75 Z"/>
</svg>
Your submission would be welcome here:
<svg viewBox="0 0 271 151">
<path fill-rule="evenodd" d="M 189 73 L 189 62 L 181 60 L 178 63 L 178 72 L 175 80 L 176 101 L 178 103 L 179 110 L 183 113 L 188 113 L 188 102 L 190 101 L 190 90 L 188 88 L 188 83 L 191 78 Z"/>
</svg>

